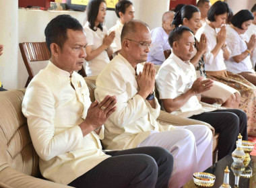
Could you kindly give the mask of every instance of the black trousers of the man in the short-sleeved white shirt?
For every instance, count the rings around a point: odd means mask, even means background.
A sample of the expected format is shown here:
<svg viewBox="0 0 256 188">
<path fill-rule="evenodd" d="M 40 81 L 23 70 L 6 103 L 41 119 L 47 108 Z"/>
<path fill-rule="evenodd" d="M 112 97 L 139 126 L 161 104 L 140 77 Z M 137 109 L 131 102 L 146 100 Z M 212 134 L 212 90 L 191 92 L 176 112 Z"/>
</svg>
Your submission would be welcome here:
<svg viewBox="0 0 256 188">
<path fill-rule="evenodd" d="M 239 133 L 243 140 L 247 140 L 247 115 L 240 109 L 218 109 L 204 112 L 190 117 L 213 126 L 218 138 L 218 160 L 231 154 L 236 148 L 236 140 Z"/>
</svg>

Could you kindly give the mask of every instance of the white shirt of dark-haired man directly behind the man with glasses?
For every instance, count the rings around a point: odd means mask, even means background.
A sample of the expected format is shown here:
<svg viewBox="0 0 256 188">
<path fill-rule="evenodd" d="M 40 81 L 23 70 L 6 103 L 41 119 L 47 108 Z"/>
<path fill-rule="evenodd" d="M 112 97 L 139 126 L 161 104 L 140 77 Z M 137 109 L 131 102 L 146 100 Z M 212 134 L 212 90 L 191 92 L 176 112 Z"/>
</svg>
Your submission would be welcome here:
<svg viewBox="0 0 256 188">
<path fill-rule="evenodd" d="M 115 24 L 115 26 L 113 26 L 112 28 L 110 28 L 108 30 L 108 34 L 110 34 L 110 32 L 115 31 L 115 39 L 112 42 L 112 44 L 110 45 L 113 49 L 113 53 L 121 50 L 122 45 L 121 45 L 121 32 L 123 29 L 123 23 L 121 23 L 120 19 L 117 19 L 117 23 Z"/>
</svg>

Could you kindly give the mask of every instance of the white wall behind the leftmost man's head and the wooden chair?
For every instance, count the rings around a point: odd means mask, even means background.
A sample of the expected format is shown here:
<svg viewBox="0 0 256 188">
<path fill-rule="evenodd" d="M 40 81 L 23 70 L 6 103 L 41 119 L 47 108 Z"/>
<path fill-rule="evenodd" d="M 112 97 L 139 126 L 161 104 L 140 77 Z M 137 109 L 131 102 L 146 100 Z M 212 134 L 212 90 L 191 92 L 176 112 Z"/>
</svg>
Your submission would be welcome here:
<svg viewBox="0 0 256 188">
<path fill-rule="evenodd" d="M 18 5 L 17 5 L 18 6 Z M 18 42 L 44 42 L 44 29 L 46 25 L 60 14 L 69 14 L 84 26 L 86 21 L 86 12 L 81 11 L 41 11 L 41 10 L 28 10 L 19 9 L 19 32 L 18 32 Z M 115 25 L 117 21 L 117 15 L 115 11 L 107 11 L 106 13 L 106 27 L 110 28 Z M 18 46 L 18 44 L 15 44 Z M 16 53 L 17 54 L 17 53 Z M 46 66 L 47 62 L 38 63 L 33 62 L 32 68 L 34 73 L 38 73 L 40 69 Z M 20 53 L 20 48 L 18 49 L 18 82 L 17 88 L 22 88 L 25 86 L 28 79 L 28 72 L 22 60 L 22 54 Z"/>
</svg>

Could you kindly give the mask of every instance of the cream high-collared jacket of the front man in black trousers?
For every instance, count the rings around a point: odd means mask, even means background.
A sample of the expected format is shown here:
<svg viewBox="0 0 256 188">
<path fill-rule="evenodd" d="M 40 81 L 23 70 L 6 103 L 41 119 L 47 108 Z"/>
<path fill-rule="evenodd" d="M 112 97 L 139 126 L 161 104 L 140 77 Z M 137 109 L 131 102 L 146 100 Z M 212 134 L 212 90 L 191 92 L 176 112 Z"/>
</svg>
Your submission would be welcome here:
<svg viewBox="0 0 256 188">
<path fill-rule="evenodd" d="M 83 137 L 78 126 L 90 107 L 89 95 L 80 75 L 70 77 L 51 61 L 28 85 L 22 112 L 46 179 L 67 185 L 110 157 L 102 152 L 103 130 Z"/>
</svg>

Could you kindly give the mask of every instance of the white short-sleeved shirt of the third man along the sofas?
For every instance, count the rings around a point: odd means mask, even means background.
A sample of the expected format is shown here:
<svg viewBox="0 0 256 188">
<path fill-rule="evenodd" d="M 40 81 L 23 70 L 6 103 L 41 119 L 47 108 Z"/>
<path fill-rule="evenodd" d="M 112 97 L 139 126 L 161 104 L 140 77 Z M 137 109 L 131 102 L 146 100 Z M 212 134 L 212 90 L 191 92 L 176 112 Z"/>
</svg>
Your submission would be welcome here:
<svg viewBox="0 0 256 188">
<path fill-rule="evenodd" d="M 191 89 L 197 79 L 195 67 L 190 62 L 184 62 L 175 54 L 170 56 L 160 66 L 156 75 L 156 86 L 160 99 L 175 99 Z M 213 111 L 215 109 L 203 109 L 197 96 L 193 95 L 189 100 L 172 114 L 179 114 L 184 117 Z"/>
</svg>

